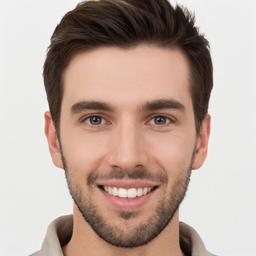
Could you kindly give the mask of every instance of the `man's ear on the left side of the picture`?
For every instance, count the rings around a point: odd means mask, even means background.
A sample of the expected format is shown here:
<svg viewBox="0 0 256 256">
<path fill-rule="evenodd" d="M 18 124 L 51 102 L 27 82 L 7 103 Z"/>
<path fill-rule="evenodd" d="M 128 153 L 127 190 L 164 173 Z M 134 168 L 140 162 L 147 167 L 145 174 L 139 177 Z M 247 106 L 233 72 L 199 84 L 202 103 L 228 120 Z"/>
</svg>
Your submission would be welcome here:
<svg viewBox="0 0 256 256">
<path fill-rule="evenodd" d="M 44 133 L 48 140 L 49 151 L 50 151 L 50 155 L 53 163 L 57 167 L 63 169 L 57 133 L 56 133 L 53 121 L 51 119 L 51 114 L 49 111 L 46 111 L 44 113 Z"/>
</svg>

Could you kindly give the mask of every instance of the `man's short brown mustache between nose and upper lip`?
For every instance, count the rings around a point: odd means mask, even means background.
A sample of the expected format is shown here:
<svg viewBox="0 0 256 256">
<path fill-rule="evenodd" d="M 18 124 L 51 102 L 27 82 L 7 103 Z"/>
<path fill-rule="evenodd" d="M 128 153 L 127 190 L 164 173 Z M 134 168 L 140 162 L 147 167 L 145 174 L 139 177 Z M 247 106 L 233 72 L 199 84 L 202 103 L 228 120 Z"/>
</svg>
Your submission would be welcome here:
<svg viewBox="0 0 256 256">
<path fill-rule="evenodd" d="M 87 176 L 87 185 L 95 183 L 97 180 L 109 180 L 109 179 L 143 179 L 160 183 L 167 183 L 168 177 L 162 172 L 151 172 L 146 168 L 136 168 L 133 171 L 127 173 L 120 169 L 112 169 L 106 171 L 93 171 Z"/>
</svg>

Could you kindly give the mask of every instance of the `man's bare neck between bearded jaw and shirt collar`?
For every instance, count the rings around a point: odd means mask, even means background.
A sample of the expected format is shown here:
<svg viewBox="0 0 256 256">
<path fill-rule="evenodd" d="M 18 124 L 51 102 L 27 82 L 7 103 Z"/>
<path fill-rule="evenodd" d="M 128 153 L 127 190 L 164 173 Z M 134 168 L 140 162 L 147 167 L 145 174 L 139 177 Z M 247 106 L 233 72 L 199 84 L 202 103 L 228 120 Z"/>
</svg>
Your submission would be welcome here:
<svg viewBox="0 0 256 256">
<path fill-rule="evenodd" d="M 102 251 L 106 256 L 183 255 L 179 246 L 178 211 L 157 237 L 145 245 L 133 248 L 116 247 L 102 240 L 83 219 L 76 206 L 74 206 L 73 221 L 72 237 L 62 247 L 64 256 L 95 256 L 102 255 Z"/>
</svg>

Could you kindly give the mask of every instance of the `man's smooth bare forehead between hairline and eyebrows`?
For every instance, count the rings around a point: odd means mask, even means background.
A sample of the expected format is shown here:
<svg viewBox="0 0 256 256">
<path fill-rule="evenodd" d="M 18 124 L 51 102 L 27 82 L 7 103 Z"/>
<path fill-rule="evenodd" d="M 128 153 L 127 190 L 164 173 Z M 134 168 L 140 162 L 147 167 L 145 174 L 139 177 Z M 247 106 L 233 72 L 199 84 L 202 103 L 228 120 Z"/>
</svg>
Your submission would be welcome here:
<svg viewBox="0 0 256 256">
<path fill-rule="evenodd" d="M 63 74 L 61 108 L 83 99 L 137 107 L 167 97 L 190 104 L 188 70 L 184 54 L 177 49 L 105 47 L 79 53 Z"/>
</svg>

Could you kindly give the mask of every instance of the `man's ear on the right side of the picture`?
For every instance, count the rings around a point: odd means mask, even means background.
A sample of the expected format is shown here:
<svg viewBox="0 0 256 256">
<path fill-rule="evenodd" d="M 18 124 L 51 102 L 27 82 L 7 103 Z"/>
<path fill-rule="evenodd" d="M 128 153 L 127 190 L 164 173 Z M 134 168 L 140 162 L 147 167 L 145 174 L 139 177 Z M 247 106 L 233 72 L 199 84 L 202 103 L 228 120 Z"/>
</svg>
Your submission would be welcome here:
<svg viewBox="0 0 256 256">
<path fill-rule="evenodd" d="M 193 169 L 198 169 L 202 166 L 208 151 L 208 141 L 210 135 L 210 115 L 206 114 L 202 121 L 200 133 L 196 140 L 196 152 L 192 165 Z"/>
</svg>

